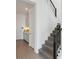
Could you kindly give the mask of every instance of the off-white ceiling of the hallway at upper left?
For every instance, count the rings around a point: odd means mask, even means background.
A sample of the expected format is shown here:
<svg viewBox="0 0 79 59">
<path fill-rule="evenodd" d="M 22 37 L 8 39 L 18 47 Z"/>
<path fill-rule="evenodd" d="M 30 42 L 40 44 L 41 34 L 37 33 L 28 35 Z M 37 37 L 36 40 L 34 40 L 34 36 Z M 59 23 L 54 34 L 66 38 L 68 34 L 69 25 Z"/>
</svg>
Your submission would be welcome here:
<svg viewBox="0 0 79 59">
<path fill-rule="evenodd" d="M 25 8 L 30 9 L 33 5 L 22 1 L 22 0 L 16 0 L 16 13 L 23 13 L 26 14 L 27 11 L 25 10 Z"/>
</svg>

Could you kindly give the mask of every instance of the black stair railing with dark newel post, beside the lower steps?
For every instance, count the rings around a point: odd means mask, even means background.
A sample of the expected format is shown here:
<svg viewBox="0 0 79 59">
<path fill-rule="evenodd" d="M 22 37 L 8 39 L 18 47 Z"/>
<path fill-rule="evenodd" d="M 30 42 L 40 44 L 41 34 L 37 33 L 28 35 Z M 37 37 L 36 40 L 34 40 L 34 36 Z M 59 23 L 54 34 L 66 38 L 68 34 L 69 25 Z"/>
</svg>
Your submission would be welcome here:
<svg viewBox="0 0 79 59">
<path fill-rule="evenodd" d="M 57 50 L 61 46 L 61 25 L 58 23 L 55 30 L 53 31 L 54 37 L 54 59 L 57 59 L 58 53 Z M 60 48 L 61 49 L 61 48 Z"/>
</svg>

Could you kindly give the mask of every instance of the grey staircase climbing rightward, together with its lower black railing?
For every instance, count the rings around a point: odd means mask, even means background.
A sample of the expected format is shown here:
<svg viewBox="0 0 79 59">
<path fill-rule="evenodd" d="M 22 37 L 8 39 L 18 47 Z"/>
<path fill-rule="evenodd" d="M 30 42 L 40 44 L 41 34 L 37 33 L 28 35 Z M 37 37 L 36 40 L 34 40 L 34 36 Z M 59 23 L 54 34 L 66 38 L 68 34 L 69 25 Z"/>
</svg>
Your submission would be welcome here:
<svg viewBox="0 0 79 59">
<path fill-rule="evenodd" d="M 42 45 L 42 48 L 39 49 L 39 54 L 45 59 L 57 59 L 57 50 L 61 45 L 61 38 L 59 34 L 61 31 L 60 24 L 57 24 L 55 30 L 50 33 L 48 40 L 45 41 L 45 44 Z"/>
</svg>

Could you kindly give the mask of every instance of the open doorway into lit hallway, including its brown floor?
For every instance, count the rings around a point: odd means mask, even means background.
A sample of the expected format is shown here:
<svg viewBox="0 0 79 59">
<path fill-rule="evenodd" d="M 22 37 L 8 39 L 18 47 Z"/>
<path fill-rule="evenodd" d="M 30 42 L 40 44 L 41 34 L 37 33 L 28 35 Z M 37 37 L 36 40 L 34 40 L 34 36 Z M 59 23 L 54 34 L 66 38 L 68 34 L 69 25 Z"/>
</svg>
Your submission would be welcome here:
<svg viewBox="0 0 79 59">
<path fill-rule="evenodd" d="M 35 53 L 35 3 L 16 0 L 16 59 L 43 59 Z"/>
</svg>

